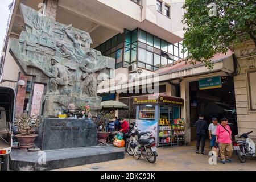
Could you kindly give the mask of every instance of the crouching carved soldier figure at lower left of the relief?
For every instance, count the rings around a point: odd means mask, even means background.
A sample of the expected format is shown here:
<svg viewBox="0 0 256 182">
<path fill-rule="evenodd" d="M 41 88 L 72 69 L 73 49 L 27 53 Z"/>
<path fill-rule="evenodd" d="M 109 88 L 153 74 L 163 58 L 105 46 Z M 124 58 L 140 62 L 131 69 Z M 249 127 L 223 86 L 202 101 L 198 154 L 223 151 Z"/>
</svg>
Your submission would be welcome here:
<svg viewBox="0 0 256 182">
<path fill-rule="evenodd" d="M 57 93 L 58 86 L 71 85 L 70 75 L 68 68 L 60 64 L 56 57 L 51 59 L 52 71 L 43 73 L 51 78 L 50 80 L 50 92 L 53 94 Z"/>
</svg>

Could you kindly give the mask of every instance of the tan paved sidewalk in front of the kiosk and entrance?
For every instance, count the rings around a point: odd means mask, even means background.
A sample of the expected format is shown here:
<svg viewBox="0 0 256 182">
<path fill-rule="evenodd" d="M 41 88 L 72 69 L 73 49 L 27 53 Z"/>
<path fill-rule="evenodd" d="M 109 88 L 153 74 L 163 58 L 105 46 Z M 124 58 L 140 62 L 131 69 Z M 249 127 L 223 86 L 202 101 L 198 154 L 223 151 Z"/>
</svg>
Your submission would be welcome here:
<svg viewBox="0 0 256 182">
<path fill-rule="evenodd" d="M 205 148 L 205 155 L 196 154 L 195 146 L 174 146 L 174 147 L 159 147 L 158 158 L 154 164 L 149 163 L 146 159 L 141 158 L 136 160 L 133 156 L 125 155 L 125 159 L 113 160 L 109 162 L 94 163 L 84 166 L 71 168 L 63 168 L 59 170 L 76 170 L 87 171 L 93 170 L 92 167 L 98 166 L 97 170 L 158 170 L 158 171 L 181 171 L 181 170 L 256 170 L 256 159 L 247 158 L 245 163 L 240 163 L 236 155 L 232 156 L 233 162 L 222 164 L 217 158 L 217 164 L 210 165 L 208 160 L 209 148 Z"/>
</svg>

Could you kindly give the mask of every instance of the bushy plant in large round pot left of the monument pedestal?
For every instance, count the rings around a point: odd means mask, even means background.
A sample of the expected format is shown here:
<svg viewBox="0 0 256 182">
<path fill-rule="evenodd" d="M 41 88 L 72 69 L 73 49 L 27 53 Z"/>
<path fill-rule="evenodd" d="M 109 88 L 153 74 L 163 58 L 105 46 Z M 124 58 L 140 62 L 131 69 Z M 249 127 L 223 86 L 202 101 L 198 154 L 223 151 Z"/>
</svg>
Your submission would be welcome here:
<svg viewBox="0 0 256 182">
<path fill-rule="evenodd" d="M 41 124 L 41 118 L 38 115 L 27 115 L 26 113 L 18 115 L 14 123 L 18 126 L 18 131 L 20 134 L 15 135 L 20 144 L 20 150 L 27 150 L 27 148 L 32 148 L 34 146 L 34 141 L 37 134 L 35 130 L 38 130 Z"/>
</svg>

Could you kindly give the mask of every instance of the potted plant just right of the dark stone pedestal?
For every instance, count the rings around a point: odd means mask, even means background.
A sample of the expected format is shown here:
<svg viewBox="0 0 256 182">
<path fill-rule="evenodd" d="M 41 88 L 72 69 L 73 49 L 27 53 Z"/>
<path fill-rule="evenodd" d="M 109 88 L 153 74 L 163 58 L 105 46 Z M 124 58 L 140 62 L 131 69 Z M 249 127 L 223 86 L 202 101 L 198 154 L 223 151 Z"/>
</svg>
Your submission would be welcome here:
<svg viewBox="0 0 256 182">
<path fill-rule="evenodd" d="M 104 113 L 104 111 L 100 112 L 100 118 L 97 121 L 98 142 L 106 142 L 108 139 L 110 132 L 106 131 L 106 127 L 110 119 L 113 119 L 114 117 L 114 111 L 110 111 L 109 113 Z"/>
</svg>

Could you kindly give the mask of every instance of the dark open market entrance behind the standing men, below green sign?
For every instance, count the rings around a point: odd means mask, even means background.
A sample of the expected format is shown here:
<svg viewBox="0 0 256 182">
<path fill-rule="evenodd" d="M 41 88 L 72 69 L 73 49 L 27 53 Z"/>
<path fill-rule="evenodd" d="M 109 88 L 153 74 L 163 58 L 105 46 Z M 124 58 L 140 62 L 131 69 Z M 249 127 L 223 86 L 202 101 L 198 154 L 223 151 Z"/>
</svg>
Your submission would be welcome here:
<svg viewBox="0 0 256 182">
<path fill-rule="evenodd" d="M 217 118 L 218 122 L 221 118 L 227 118 L 232 133 L 234 135 L 238 133 L 233 77 L 221 77 L 221 82 L 221 88 L 204 90 L 199 89 L 199 81 L 189 83 L 191 140 L 196 140 L 195 122 L 199 114 L 204 115 L 208 125 L 213 117 Z M 208 132 L 207 137 L 209 137 Z"/>
</svg>

